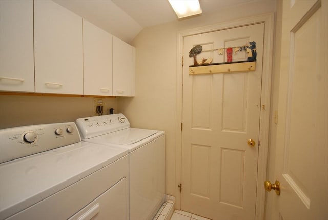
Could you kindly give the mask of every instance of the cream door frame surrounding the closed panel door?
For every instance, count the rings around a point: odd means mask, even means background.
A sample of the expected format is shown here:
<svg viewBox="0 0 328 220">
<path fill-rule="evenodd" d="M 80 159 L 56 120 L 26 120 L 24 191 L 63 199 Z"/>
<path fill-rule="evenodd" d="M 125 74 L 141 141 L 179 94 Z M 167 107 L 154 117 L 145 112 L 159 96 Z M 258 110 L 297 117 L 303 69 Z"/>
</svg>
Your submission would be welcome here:
<svg viewBox="0 0 328 220">
<path fill-rule="evenodd" d="M 263 181 L 267 177 L 269 122 L 271 101 L 271 75 L 273 65 L 273 41 L 274 41 L 274 13 L 262 14 L 230 22 L 198 27 L 177 33 L 177 101 L 176 101 L 176 169 L 175 169 L 175 208 L 181 209 L 181 193 L 178 185 L 181 183 L 181 156 L 182 156 L 182 84 L 183 67 L 183 37 L 200 33 L 219 31 L 228 28 L 236 28 L 245 25 L 264 23 L 264 48 L 262 64 L 262 88 L 261 88 L 261 112 L 260 112 L 260 147 L 258 149 L 257 187 L 255 219 L 264 219 L 265 190 Z M 183 59 L 182 59 L 183 62 Z M 263 107 L 264 105 L 264 107 Z M 183 186 L 182 186 L 183 187 Z"/>
</svg>

